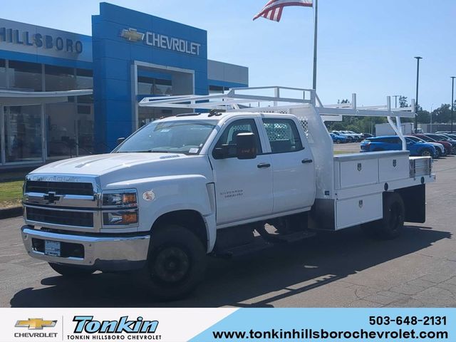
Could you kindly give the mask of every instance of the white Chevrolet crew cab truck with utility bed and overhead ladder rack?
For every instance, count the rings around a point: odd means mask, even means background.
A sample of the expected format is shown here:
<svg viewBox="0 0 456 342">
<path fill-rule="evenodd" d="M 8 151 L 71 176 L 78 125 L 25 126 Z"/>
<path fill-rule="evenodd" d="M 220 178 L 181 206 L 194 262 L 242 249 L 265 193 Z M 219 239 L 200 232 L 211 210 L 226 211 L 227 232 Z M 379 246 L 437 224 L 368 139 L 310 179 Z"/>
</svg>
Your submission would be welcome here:
<svg viewBox="0 0 456 342">
<path fill-rule="evenodd" d="M 333 156 L 324 125 L 340 115 L 387 115 L 401 134 L 400 116 L 413 113 L 360 110 L 354 96 L 352 108 L 324 107 L 314 90 L 261 92 L 270 89 L 145 98 L 140 105 L 192 113 L 155 120 L 111 153 L 28 174 L 28 254 L 63 276 L 138 269 L 157 296 L 175 298 L 197 286 L 207 254 L 236 256 L 358 225 L 392 239 L 404 221 L 425 222 L 430 157 Z M 280 97 L 286 90 L 301 95 Z M 259 101 L 272 105 L 245 105 Z"/>
</svg>

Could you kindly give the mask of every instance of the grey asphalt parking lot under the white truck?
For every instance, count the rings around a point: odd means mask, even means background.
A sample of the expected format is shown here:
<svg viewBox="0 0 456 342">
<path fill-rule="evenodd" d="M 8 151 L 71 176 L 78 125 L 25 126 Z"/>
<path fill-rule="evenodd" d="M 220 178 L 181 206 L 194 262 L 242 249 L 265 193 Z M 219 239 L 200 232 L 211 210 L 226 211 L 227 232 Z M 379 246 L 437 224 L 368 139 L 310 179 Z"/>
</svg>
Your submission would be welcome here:
<svg viewBox="0 0 456 342">
<path fill-rule="evenodd" d="M 375 241 L 359 229 L 347 229 L 242 259 L 212 259 L 195 294 L 171 303 L 155 301 L 134 276 L 98 273 L 63 279 L 24 252 L 22 219 L 4 219 L 0 305 L 456 306 L 456 157 L 436 160 L 434 171 L 437 182 L 427 186 L 427 222 L 407 225 L 399 239 Z"/>
</svg>

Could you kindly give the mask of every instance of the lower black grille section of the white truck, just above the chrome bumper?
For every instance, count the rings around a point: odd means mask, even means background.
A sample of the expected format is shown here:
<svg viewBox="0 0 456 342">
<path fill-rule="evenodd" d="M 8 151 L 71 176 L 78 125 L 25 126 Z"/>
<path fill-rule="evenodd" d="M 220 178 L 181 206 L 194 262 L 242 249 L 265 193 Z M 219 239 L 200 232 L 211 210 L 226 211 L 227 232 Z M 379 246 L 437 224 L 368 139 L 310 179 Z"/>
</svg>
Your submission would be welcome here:
<svg viewBox="0 0 456 342">
<path fill-rule="evenodd" d="M 26 208 L 26 219 L 44 224 L 64 224 L 74 227 L 93 227 L 92 212 L 78 212 L 66 210 L 50 210 L 42 208 Z"/>
</svg>

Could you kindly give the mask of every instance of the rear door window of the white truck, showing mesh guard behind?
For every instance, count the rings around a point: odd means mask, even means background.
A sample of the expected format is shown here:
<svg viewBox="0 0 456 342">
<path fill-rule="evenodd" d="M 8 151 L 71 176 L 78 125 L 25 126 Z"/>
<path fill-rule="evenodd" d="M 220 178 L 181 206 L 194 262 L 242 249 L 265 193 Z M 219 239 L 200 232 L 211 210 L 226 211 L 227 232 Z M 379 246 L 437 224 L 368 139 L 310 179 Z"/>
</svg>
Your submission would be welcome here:
<svg viewBox="0 0 456 342">
<path fill-rule="evenodd" d="M 298 128 L 290 119 L 263 119 L 272 153 L 286 153 L 303 150 Z"/>
</svg>

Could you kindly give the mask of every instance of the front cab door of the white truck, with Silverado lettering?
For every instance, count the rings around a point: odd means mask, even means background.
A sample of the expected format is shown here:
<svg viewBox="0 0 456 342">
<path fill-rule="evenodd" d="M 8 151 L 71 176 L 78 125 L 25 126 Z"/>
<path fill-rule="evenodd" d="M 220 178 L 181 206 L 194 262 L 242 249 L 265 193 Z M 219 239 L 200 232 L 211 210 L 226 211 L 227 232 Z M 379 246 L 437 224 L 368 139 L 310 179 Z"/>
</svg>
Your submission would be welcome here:
<svg viewBox="0 0 456 342">
<path fill-rule="evenodd" d="M 235 148 L 223 158 L 214 157 L 214 148 L 235 146 L 239 133 L 254 133 L 257 137 L 257 157 L 239 160 Z M 254 219 L 272 212 L 271 157 L 263 154 L 261 138 L 254 119 L 237 119 L 224 128 L 212 148 L 217 202 L 217 225 Z"/>
</svg>

